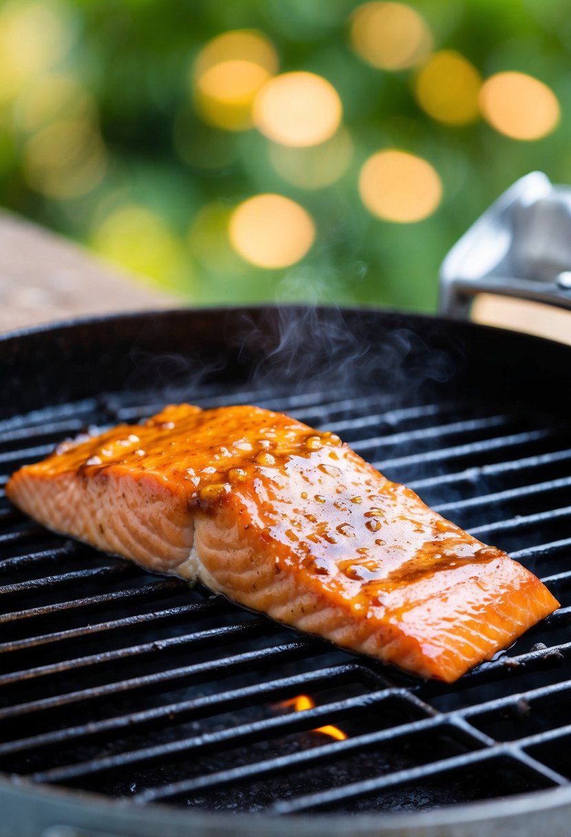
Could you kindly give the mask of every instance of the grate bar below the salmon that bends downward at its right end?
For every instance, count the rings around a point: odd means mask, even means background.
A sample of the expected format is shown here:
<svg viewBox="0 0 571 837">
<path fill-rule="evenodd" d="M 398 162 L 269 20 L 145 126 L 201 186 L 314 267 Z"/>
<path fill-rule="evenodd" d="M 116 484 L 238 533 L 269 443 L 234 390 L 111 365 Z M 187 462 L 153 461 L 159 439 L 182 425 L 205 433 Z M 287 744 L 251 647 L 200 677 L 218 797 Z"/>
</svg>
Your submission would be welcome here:
<svg viewBox="0 0 571 837">
<path fill-rule="evenodd" d="M 39 735 L 20 738 L 18 740 L 0 744 L 0 756 L 13 752 L 23 752 L 38 747 L 48 747 L 52 744 L 64 744 L 79 738 L 104 735 L 106 732 L 119 733 L 124 730 L 132 732 L 138 727 L 149 727 L 160 724 L 162 721 L 182 722 L 193 716 L 202 714 L 220 713 L 225 710 L 234 709 L 247 701 L 270 701 L 275 696 L 287 698 L 296 694 L 300 689 L 307 686 L 318 688 L 319 686 L 335 686 L 337 683 L 346 682 L 350 675 L 367 675 L 367 670 L 361 669 L 357 663 L 339 664 L 334 667 L 307 671 L 301 675 L 282 677 L 278 680 L 266 680 L 255 686 L 243 686 L 239 689 L 218 692 L 215 695 L 194 698 L 190 701 L 179 701 L 177 703 L 156 706 L 137 712 L 128 712 L 124 715 L 105 718 L 102 721 L 90 721 L 78 727 L 65 727 L 61 730 L 43 732 Z M 390 696 L 402 695 L 403 690 L 388 689 Z M 409 695 L 404 695 L 409 699 Z M 423 706 L 425 711 L 431 711 L 418 698 L 412 697 L 414 705 Z"/>
</svg>

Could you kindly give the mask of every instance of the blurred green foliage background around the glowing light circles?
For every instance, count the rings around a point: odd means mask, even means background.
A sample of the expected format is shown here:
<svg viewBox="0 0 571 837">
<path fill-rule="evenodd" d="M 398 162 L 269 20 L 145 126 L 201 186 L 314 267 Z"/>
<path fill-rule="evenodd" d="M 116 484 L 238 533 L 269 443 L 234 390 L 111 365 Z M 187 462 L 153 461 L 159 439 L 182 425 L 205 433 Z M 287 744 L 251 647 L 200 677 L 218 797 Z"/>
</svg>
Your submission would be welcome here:
<svg viewBox="0 0 571 837">
<path fill-rule="evenodd" d="M 105 213 L 121 203 L 148 208 L 161 218 L 176 251 L 164 270 L 160 265 L 151 270 L 154 280 L 185 300 L 336 300 L 431 311 L 441 259 L 504 188 L 534 169 L 555 182 L 571 182 L 566 0 L 410 3 L 429 23 L 435 49 L 460 51 L 485 78 L 515 69 L 553 89 L 562 121 L 551 136 L 533 142 L 508 139 L 484 121 L 450 127 L 424 114 L 414 98 L 413 70 L 373 69 L 352 51 L 347 18 L 358 6 L 352 0 L 45 0 L 44 5 L 69 34 L 59 69 L 81 80 L 95 98 L 107 168 L 100 183 L 79 198 L 35 191 L 23 167 L 24 139 L 13 106 L 6 105 L 0 113 L 3 206 L 95 249 Z M 292 186 L 272 167 L 269 142 L 258 131 L 210 129 L 193 111 L 188 88 L 193 59 L 208 39 L 234 28 L 267 34 L 281 71 L 310 70 L 337 88 L 354 154 L 332 186 L 316 191 Z M 192 149 L 203 145 L 219 148 L 227 162 L 208 170 L 193 165 Z M 363 207 L 358 172 L 383 147 L 418 153 L 440 173 L 444 198 L 430 218 L 385 223 Z M 205 206 L 214 215 L 219 207 L 224 216 L 259 192 L 293 198 L 316 221 L 316 243 L 290 269 L 245 264 L 213 233 L 208 238 L 208 217 L 196 226 Z M 134 239 L 136 248 L 136 234 Z M 144 252 L 141 258 L 144 262 Z M 145 264 L 137 267 L 145 270 Z"/>
</svg>

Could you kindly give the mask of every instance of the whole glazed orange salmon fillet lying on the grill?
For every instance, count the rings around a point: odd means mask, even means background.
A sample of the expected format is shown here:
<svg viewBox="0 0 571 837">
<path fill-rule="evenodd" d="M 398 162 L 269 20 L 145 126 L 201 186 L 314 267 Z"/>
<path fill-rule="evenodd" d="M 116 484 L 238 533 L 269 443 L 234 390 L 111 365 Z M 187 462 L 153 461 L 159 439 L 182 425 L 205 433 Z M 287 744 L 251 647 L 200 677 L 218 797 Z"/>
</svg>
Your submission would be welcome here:
<svg viewBox="0 0 571 837">
<path fill-rule="evenodd" d="M 168 406 L 6 490 L 54 531 L 421 677 L 456 680 L 558 608 L 337 436 L 261 408 Z"/>
</svg>

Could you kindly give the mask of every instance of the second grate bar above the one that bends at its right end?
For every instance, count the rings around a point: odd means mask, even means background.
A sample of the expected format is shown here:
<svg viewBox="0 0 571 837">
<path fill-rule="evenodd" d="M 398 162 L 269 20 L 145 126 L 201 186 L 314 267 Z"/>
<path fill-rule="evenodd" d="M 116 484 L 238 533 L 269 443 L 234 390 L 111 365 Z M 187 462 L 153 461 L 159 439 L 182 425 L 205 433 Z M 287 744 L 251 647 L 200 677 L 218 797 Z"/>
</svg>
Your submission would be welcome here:
<svg viewBox="0 0 571 837">
<path fill-rule="evenodd" d="M 63 660 L 51 665 L 39 665 L 35 668 L 13 671 L 8 675 L 0 675 L 0 686 L 10 686 L 22 680 L 35 680 L 39 677 L 64 674 L 65 671 L 85 669 L 88 666 L 105 665 L 105 663 L 117 660 L 128 660 L 130 657 L 157 654 L 159 651 L 172 648 L 200 645 L 212 639 L 250 638 L 268 631 L 268 624 L 265 619 L 249 619 L 247 622 L 224 625 L 218 628 L 195 631 L 193 634 L 172 636 L 168 639 L 157 639 L 153 642 L 129 645 L 127 648 L 118 648 L 112 651 L 104 651 L 98 654 L 76 657 L 75 660 Z"/>
</svg>

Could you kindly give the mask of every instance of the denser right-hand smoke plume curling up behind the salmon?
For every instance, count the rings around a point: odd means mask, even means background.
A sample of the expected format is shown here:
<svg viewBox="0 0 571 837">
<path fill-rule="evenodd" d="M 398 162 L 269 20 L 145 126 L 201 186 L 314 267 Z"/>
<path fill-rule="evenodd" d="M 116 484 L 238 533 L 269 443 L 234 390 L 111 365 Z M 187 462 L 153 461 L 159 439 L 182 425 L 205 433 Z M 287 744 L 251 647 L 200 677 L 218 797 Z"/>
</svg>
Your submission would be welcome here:
<svg viewBox="0 0 571 837">
<path fill-rule="evenodd" d="M 255 385 L 406 394 L 416 403 L 425 384 L 449 381 L 456 363 L 406 321 L 373 310 L 277 306 L 230 316 L 227 334 Z"/>
</svg>

